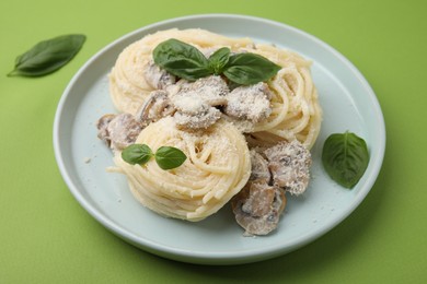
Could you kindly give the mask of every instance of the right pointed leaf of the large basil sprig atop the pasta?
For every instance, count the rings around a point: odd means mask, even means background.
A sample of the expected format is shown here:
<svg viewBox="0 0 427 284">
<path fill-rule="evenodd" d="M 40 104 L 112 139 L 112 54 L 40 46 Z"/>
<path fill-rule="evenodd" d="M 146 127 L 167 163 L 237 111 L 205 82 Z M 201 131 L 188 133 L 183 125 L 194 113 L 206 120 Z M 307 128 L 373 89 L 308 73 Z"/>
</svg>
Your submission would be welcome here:
<svg viewBox="0 0 427 284">
<path fill-rule="evenodd" d="M 241 85 L 252 85 L 267 81 L 281 69 L 265 57 L 255 54 L 232 55 L 223 74 Z"/>
</svg>

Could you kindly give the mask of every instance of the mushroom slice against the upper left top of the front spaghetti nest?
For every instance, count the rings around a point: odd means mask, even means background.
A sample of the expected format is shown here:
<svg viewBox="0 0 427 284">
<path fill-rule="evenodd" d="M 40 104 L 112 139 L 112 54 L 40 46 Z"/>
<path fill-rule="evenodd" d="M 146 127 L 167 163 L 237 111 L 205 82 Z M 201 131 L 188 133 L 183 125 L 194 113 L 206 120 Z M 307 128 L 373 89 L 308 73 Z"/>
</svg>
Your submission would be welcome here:
<svg viewBox="0 0 427 284">
<path fill-rule="evenodd" d="M 137 110 L 135 115 L 137 121 L 145 126 L 172 115 L 175 111 L 169 99 L 168 92 L 163 90 L 152 91 L 146 103 Z"/>
</svg>

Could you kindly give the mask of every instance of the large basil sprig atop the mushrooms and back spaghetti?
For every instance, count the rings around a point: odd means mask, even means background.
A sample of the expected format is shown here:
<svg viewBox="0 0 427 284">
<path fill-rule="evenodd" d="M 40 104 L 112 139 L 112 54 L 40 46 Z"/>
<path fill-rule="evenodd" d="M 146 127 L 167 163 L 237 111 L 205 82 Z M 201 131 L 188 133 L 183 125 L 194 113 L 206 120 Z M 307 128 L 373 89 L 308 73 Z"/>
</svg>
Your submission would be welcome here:
<svg viewBox="0 0 427 284">
<path fill-rule="evenodd" d="M 234 83 L 251 85 L 272 79 L 281 69 L 259 55 L 231 55 L 228 47 L 222 47 L 206 58 L 194 46 L 174 38 L 159 44 L 153 50 L 153 58 L 159 67 L 189 81 L 223 74 Z"/>
</svg>

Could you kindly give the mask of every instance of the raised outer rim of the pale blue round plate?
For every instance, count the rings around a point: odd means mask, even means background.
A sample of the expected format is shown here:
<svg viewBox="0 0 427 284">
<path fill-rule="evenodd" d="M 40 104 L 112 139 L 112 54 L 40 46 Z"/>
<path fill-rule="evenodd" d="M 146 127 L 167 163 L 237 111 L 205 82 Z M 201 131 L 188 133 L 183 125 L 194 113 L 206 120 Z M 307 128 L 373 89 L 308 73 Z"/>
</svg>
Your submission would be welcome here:
<svg viewBox="0 0 427 284">
<path fill-rule="evenodd" d="M 370 99 L 373 103 L 373 108 L 376 111 L 376 119 L 380 123 L 379 129 L 379 137 L 381 138 L 381 143 L 378 149 L 378 155 L 377 157 L 372 157 L 370 159 L 370 163 L 376 162 L 371 166 L 371 171 L 369 173 L 369 177 L 363 185 L 363 188 L 367 188 L 366 190 L 360 190 L 355 196 L 355 200 L 351 202 L 351 206 L 348 208 L 346 211 L 346 214 L 342 214 L 338 217 L 335 217 L 333 222 L 330 222 L 327 226 L 323 226 L 322 229 L 318 230 L 316 234 L 307 234 L 304 238 L 301 238 L 301 240 L 296 240 L 295 244 L 291 244 L 291 246 L 288 246 L 286 248 L 280 247 L 279 245 L 275 244 L 272 246 L 268 246 L 266 248 L 258 248 L 258 249 L 252 249 L 249 251 L 240 251 L 238 255 L 235 252 L 209 252 L 209 255 L 205 255 L 204 252 L 199 251 L 188 251 L 175 247 L 165 247 L 163 245 L 159 245 L 155 241 L 151 241 L 149 239 L 143 239 L 142 237 L 136 236 L 135 234 L 127 232 L 119 224 L 116 224 L 114 221 L 111 221 L 107 216 L 105 216 L 100 210 L 91 205 L 91 203 L 80 193 L 80 191 L 77 189 L 77 186 L 74 181 L 71 179 L 71 177 L 68 175 L 67 166 L 64 161 L 64 157 L 61 155 L 61 144 L 60 144 L 60 137 L 59 137 L 59 126 L 61 120 L 61 114 L 66 105 L 66 100 L 68 97 L 68 94 L 70 93 L 72 86 L 78 82 L 78 80 L 81 78 L 81 74 L 84 72 L 84 70 L 91 66 L 95 60 L 97 60 L 99 57 L 101 57 L 103 54 L 105 54 L 107 50 L 112 49 L 117 44 L 129 40 L 129 38 L 143 33 L 147 29 L 164 26 L 171 23 L 180 23 L 183 21 L 195 21 L 195 20 L 206 20 L 206 19 L 232 19 L 232 20 L 244 20 L 244 21 L 251 21 L 251 22 L 263 22 L 269 25 L 275 25 L 281 28 L 287 28 L 292 31 L 293 33 L 300 34 L 313 42 L 315 42 L 318 45 L 321 45 L 323 48 L 327 49 L 327 51 L 332 52 L 334 57 L 336 57 L 339 61 L 342 61 L 354 75 L 356 75 L 356 79 L 359 83 L 361 83 L 365 91 L 368 92 Z M 330 232 L 332 228 L 336 227 L 341 222 L 343 222 L 346 217 L 348 217 L 354 210 L 358 208 L 358 205 L 362 202 L 362 200 L 366 198 L 366 196 L 370 192 L 371 188 L 373 187 L 373 184 L 376 182 L 378 175 L 381 170 L 381 165 L 383 163 L 383 157 L 385 153 L 385 122 L 384 117 L 382 115 L 381 106 L 379 104 L 379 100 L 371 88 L 370 84 L 366 80 L 366 78 L 361 74 L 361 72 L 354 66 L 353 62 L 350 62 L 346 57 L 344 57 L 339 51 L 337 51 L 334 47 L 330 46 L 325 42 L 319 39 L 318 37 L 299 29 L 295 26 L 290 26 L 288 24 L 276 22 L 273 20 L 258 17 L 258 16 L 252 16 L 252 15 L 243 15 L 243 14 L 228 14 L 228 13 L 208 13 L 208 14 L 194 14 L 194 15 L 186 15 L 186 16 L 178 16 L 173 17 L 169 20 L 163 20 L 160 22 L 155 22 L 142 27 L 139 27 L 130 33 L 127 33 L 119 38 L 113 40 L 102 49 L 100 49 L 95 55 L 93 55 L 78 70 L 78 72 L 72 76 L 71 81 L 68 83 L 67 87 L 65 88 L 61 98 L 57 106 L 57 111 L 55 114 L 55 120 L 54 120 L 54 151 L 55 151 L 55 157 L 56 162 L 58 164 L 60 174 L 68 187 L 68 189 L 71 191 L 74 199 L 80 203 L 83 209 L 92 215 L 97 222 L 100 222 L 105 228 L 107 228 L 109 232 L 115 234 L 116 236 L 125 239 L 126 241 L 132 244 L 134 246 L 143 249 L 145 251 L 158 255 L 160 257 L 165 257 L 173 260 L 184 261 L 184 262 L 192 262 L 192 263 L 199 263 L 199 264 L 236 264 L 236 263 L 249 263 L 254 261 L 259 261 L 264 259 L 274 258 L 277 256 L 281 256 L 284 253 L 290 252 L 295 249 L 298 249 L 314 239 L 320 238 L 327 232 Z"/>
</svg>

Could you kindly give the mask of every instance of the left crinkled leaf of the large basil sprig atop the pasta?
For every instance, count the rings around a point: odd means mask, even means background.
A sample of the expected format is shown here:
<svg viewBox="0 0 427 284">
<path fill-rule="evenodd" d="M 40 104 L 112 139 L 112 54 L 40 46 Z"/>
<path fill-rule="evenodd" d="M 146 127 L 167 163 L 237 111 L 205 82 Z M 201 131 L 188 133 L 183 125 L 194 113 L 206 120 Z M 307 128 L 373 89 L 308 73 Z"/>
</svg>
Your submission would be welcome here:
<svg viewBox="0 0 427 284">
<path fill-rule="evenodd" d="M 195 81 L 210 75 L 209 61 L 197 48 L 171 38 L 153 50 L 154 62 L 168 72 Z"/>
</svg>

